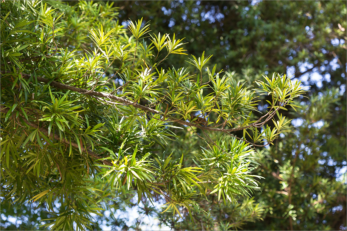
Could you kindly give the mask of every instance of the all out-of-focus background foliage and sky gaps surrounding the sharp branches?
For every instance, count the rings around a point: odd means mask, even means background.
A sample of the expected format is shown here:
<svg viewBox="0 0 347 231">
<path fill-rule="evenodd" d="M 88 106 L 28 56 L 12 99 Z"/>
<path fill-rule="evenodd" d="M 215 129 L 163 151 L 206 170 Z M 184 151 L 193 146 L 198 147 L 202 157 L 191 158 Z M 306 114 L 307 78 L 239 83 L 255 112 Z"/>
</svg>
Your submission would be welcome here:
<svg viewBox="0 0 347 231">
<path fill-rule="evenodd" d="M 62 5 L 78 6 L 76 1 Z M 92 7 L 109 6 L 111 1 L 94 1 Z M 310 90 L 298 101 L 297 112 L 283 111 L 293 119 L 294 133 L 283 133 L 274 145 L 258 149 L 260 166 L 255 175 L 263 176 L 261 190 L 238 205 L 223 204 L 211 195 L 183 218 L 160 213 L 152 204 L 137 201 L 134 192 L 124 192 L 115 207 L 99 219 L 103 229 L 153 229 L 145 216 L 159 219 L 172 230 L 346 230 L 346 2 L 345 1 L 112 1 L 108 14 L 94 14 L 91 9 L 71 8 L 68 14 L 85 14 L 82 21 L 69 23 L 75 31 L 86 31 L 96 20 L 127 27 L 127 20 L 143 17 L 154 34 L 175 32 L 187 42 L 188 54 L 213 54 L 209 64 L 246 86 L 253 85 L 261 74 L 272 72 L 293 75 Z M 63 6 L 60 6 L 63 8 Z M 63 9 L 62 9 L 63 10 Z M 89 11 L 88 11 L 89 10 Z M 77 13 L 76 13 L 77 12 Z M 105 10 L 105 12 L 107 12 Z M 113 17 L 118 18 L 113 21 Z M 74 30 L 66 44 L 75 38 Z M 130 35 L 129 35 L 130 36 Z M 83 37 L 78 38 L 83 41 Z M 81 49 L 83 50 L 83 43 Z M 184 66 L 183 56 L 169 57 L 163 68 Z M 192 68 L 192 72 L 196 71 Z M 262 98 L 264 112 L 266 98 Z M 194 130 L 177 134 L 166 152 L 177 157 L 182 152 L 194 154 L 204 146 Z M 194 165 L 185 158 L 185 165 Z M 135 199 L 134 199 L 135 198 Z M 36 220 L 44 211 L 1 204 L 2 230 L 38 229 Z M 137 207 L 139 217 L 130 219 L 130 207 Z M 114 214 L 113 214 L 114 212 Z M 112 215 L 113 214 L 113 215 Z M 128 215 L 120 215 L 128 214 Z M 145 216 L 142 216 L 142 215 Z M 17 223 L 12 223 L 16 217 Z M 261 220 L 259 220 L 261 219 Z M 254 222 L 258 220 L 257 222 Z M 13 219 L 12 219 L 13 221 Z M 35 221 L 32 223 L 32 221 Z M 19 225 L 19 223 L 22 223 Z"/>
</svg>

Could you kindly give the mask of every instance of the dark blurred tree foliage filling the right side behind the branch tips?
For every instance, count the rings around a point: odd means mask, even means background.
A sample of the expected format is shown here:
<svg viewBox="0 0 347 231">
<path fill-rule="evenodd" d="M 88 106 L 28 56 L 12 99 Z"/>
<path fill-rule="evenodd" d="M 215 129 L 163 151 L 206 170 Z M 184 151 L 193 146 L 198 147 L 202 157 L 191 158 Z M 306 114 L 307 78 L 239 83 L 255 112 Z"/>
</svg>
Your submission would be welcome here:
<svg viewBox="0 0 347 231">
<path fill-rule="evenodd" d="M 302 110 L 282 112 L 295 119 L 294 133 L 285 133 L 270 149 L 258 151 L 261 166 L 256 172 L 265 180 L 255 201 L 264 206 L 264 222 L 242 228 L 346 229 L 346 2 L 126 1 L 116 5 L 122 6 L 120 20 L 141 15 L 151 20 L 153 31 L 185 37 L 190 53 L 214 54 L 210 62 L 230 70 L 247 86 L 260 74 L 273 71 L 295 74 L 293 78 L 310 86 L 309 99 L 298 103 Z M 195 140 L 192 137 L 186 139 Z M 295 169 L 295 175 L 290 169 Z M 289 188 L 283 186 L 289 182 L 290 202 Z M 212 198 L 209 201 L 205 211 L 215 208 Z M 198 213 L 197 218 L 202 216 Z M 203 219 L 194 229 L 205 224 L 224 230 L 220 221 L 233 222 L 217 211 L 209 212 L 209 217 L 210 223 Z M 188 219 L 184 226 L 176 220 L 170 224 L 179 229 L 195 227 Z"/>
</svg>

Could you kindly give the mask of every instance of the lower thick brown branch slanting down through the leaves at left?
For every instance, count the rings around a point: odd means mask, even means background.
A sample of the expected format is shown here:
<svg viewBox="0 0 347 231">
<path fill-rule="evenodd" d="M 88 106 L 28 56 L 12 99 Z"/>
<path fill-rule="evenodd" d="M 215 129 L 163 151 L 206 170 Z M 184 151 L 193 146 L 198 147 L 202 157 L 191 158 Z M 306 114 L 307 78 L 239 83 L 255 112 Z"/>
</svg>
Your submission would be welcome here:
<svg viewBox="0 0 347 231">
<path fill-rule="evenodd" d="M 1 112 L 1 113 L 7 113 L 9 110 L 10 110 L 10 109 L 9 109 L 8 107 L 6 107 L 6 106 L 3 106 L 3 105 L 0 106 L 0 112 Z M 42 133 L 44 133 L 45 135 L 48 136 L 48 129 L 43 128 L 43 127 L 40 127 L 39 125 L 34 124 L 34 123 L 30 122 L 30 121 L 27 121 L 27 120 L 26 120 L 25 118 L 23 118 L 23 117 L 22 117 L 22 119 L 23 119 L 23 121 L 24 121 L 27 125 L 29 125 L 29 126 L 31 126 L 31 127 L 33 127 L 33 128 L 38 129 L 39 131 L 41 131 Z M 53 134 L 53 133 L 51 133 L 51 134 L 49 135 L 49 138 L 51 138 L 51 139 L 56 139 L 56 140 L 60 140 L 60 136 L 57 135 L 57 134 Z M 61 139 L 61 142 L 70 145 L 70 142 L 67 141 L 66 139 Z M 71 142 L 71 146 L 73 146 L 74 148 L 78 149 L 78 144 L 77 144 L 77 143 Z M 94 159 L 101 159 L 101 158 L 102 158 L 102 157 L 100 157 L 98 154 L 96 154 L 95 152 L 90 151 L 90 150 L 87 151 L 87 150 L 84 149 L 83 152 L 85 152 L 85 153 L 87 153 L 88 155 L 92 156 Z M 113 166 L 113 164 L 112 164 L 110 161 L 108 161 L 108 160 L 102 160 L 102 162 L 104 163 L 104 165 Z"/>
</svg>

